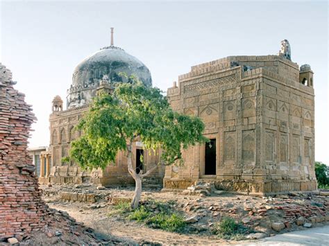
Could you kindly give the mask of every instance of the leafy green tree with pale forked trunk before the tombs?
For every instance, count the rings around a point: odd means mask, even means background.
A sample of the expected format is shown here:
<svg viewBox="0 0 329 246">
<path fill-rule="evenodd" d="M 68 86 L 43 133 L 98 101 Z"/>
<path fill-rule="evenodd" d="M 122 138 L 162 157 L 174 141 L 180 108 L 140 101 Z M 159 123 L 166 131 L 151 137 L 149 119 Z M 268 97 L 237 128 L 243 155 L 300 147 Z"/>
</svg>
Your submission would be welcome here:
<svg viewBox="0 0 329 246">
<path fill-rule="evenodd" d="M 136 80 L 117 84 L 112 94 L 96 96 L 77 128 L 83 136 L 71 143 L 69 158 L 82 168 L 106 168 L 119 151 L 126 151 L 128 173 L 135 179 L 133 209 L 139 205 L 144 177 L 162 164 L 182 165 L 182 148 L 208 141 L 200 118 L 174 112 L 160 89 Z M 142 141 L 145 149 L 162 150 L 159 163 L 146 173 L 133 168 L 133 141 Z"/>
</svg>

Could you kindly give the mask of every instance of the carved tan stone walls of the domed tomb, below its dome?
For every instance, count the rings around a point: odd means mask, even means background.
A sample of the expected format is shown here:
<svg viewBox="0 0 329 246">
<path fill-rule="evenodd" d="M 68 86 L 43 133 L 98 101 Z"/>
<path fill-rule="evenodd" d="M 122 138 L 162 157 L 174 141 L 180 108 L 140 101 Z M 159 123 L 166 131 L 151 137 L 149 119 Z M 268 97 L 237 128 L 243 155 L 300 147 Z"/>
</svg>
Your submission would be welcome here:
<svg viewBox="0 0 329 246">
<path fill-rule="evenodd" d="M 49 118 L 51 140 L 49 149 L 51 150 L 51 171 L 49 177 L 40 177 L 42 184 L 48 183 L 75 183 L 92 182 L 109 186 L 111 184 L 134 184 L 133 178 L 128 173 L 127 160 L 124 152 L 119 152 L 115 164 L 109 164 L 104 170 L 95 169 L 92 171 L 82 170 L 77 164 L 62 162 L 63 157 L 69 155 L 71 141 L 80 137 L 82 132 L 74 130 L 83 114 L 87 112 L 88 106 L 75 107 L 64 111 L 53 112 Z M 135 142 L 133 153 L 135 154 L 139 143 Z M 153 153 L 151 150 L 144 151 L 144 172 L 158 164 L 159 152 Z M 136 160 L 134 159 L 134 164 Z M 159 168 L 150 178 L 153 182 L 161 184 L 165 168 Z"/>
</svg>

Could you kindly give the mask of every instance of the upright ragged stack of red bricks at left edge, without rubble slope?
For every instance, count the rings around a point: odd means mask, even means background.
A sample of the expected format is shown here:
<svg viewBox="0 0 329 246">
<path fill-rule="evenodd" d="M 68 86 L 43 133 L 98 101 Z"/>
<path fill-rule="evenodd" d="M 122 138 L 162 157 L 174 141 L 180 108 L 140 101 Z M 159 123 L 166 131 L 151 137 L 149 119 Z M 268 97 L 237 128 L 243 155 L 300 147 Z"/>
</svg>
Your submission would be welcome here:
<svg viewBox="0 0 329 246">
<path fill-rule="evenodd" d="M 26 150 L 36 118 L 13 85 L 10 70 L 0 63 L 0 241 L 39 231 L 49 219 Z"/>
</svg>

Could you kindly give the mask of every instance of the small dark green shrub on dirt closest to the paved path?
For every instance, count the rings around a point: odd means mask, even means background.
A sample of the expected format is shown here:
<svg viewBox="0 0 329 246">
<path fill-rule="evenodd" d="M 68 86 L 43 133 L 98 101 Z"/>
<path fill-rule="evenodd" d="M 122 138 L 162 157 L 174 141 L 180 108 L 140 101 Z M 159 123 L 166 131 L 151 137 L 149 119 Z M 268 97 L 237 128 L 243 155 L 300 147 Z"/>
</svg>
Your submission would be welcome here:
<svg viewBox="0 0 329 246">
<path fill-rule="evenodd" d="M 242 224 L 235 222 L 233 218 L 224 217 L 220 222 L 214 225 L 212 233 L 223 239 L 244 239 L 244 234 L 250 233 L 250 229 Z"/>
</svg>

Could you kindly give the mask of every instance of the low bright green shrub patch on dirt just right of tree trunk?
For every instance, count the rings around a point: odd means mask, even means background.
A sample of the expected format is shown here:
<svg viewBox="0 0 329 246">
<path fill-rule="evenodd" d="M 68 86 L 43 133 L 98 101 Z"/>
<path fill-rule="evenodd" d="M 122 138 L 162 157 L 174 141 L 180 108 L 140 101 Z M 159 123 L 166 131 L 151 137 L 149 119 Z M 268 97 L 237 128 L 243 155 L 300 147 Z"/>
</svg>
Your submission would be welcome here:
<svg viewBox="0 0 329 246">
<path fill-rule="evenodd" d="M 158 213 L 157 215 L 149 218 L 146 221 L 146 225 L 151 228 L 162 229 L 165 231 L 180 232 L 185 228 L 185 220 L 183 216 L 177 213 Z"/>
</svg>

